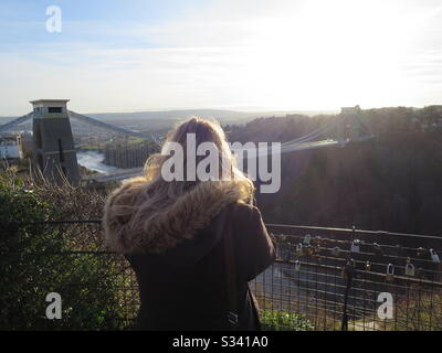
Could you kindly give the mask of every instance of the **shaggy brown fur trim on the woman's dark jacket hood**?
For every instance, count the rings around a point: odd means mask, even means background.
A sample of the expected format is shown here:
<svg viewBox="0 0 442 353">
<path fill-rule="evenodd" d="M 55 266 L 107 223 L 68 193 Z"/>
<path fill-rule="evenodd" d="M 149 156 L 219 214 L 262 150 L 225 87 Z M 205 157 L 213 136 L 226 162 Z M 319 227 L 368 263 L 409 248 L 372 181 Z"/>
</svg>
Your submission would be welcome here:
<svg viewBox="0 0 442 353">
<path fill-rule="evenodd" d="M 106 200 L 103 224 L 110 250 L 162 254 L 193 238 L 222 208 L 241 199 L 234 182 L 202 182 L 151 217 L 151 211 L 143 212 L 140 195 L 146 185 L 144 178 L 131 179 Z"/>
</svg>

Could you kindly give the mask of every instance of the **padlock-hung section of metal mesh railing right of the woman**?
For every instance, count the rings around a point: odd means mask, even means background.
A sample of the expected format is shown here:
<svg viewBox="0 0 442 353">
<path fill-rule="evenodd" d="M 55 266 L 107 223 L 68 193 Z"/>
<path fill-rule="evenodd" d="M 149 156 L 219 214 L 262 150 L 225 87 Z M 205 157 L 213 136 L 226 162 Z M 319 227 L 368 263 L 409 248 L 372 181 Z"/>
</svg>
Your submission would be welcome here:
<svg viewBox="0 0 442 353">
<path fill-rule="evenodd" d="M 293 327 L 295 314 L 295 323 L 307 321 L 312 330 L 442 330 L 442 238 L 356 228 L 267 228 L 276 239 L 277 260 L 253 288 L 282 329 Z"/>
</svg>

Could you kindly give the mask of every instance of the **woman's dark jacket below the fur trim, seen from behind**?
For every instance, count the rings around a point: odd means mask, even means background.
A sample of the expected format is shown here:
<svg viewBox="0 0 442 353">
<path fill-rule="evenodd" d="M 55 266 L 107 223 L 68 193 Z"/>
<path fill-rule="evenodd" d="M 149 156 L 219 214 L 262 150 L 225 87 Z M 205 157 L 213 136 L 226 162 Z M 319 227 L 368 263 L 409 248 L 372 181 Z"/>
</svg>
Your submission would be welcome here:
<svg viewBox="0 0 442 353">
<path fill-rule="evenodd" d="M 191 203 L 196 201 L 193 196 L 194 193 L 186 195 L 188 200 L 185 204 L 190 208 Z M 201 213 L 207 213 L 204 208 L 213 211 L 213 205 L 207 203 L 209 200 L 198 199 L 202 203 L 198 217 L 201 217 Z M 219 200 L 212 201 L 220 203 Z M 105 217 L 107 226 L 112 224 L 110 214 L 112 212 L 107 210 Z M 187 212 L 186 216 L 187 226 L 193 218 L 198 218 L 197 214 L 192 216 L 191 212 L 190 214 Z M 228 200 L 228 204 L 223 204 L 211 215 L 207 214 L 207 217 L 208 222 L 194 222 L 196 228 L 191 238 L 185 238 L 165 252 L 159 254 L 133 252 L 125 255 L 136 272 L 139 285 L 141 307 L 137 320 L 138 329 L 229 329 L 227 318 L 230 303 L 223 243 L 225 222 L 231 222 L 232 225 L 238 329 L 260 329 L 254 298 L 249 290 L 248 281 L 267 268 L 275 257 L 274 246 L 261 213 L 255 206 Z M 176 217 L 169 220 L 180 222 Z M 201 224 L 204 226 L 199 228 L 198 225 Z M 186 232 L 185 225 L 182 228 Z M 107 228 L 107 232 L 110 231 Z"/>
</svg>

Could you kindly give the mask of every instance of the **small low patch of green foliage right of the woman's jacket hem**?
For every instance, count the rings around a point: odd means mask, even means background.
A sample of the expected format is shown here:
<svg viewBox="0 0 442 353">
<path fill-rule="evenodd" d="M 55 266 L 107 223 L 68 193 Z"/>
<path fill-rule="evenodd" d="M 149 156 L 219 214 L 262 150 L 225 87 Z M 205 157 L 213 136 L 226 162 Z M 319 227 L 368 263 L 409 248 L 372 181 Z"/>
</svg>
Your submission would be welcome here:
<svg viewBox="0 0 442 353">
<path fill-rule="evenodd" d="M 314 325 L 304 315 L 271 309 L 261 310 L 261 324 L 267 331 L 312 331 Z"/>
</svg>

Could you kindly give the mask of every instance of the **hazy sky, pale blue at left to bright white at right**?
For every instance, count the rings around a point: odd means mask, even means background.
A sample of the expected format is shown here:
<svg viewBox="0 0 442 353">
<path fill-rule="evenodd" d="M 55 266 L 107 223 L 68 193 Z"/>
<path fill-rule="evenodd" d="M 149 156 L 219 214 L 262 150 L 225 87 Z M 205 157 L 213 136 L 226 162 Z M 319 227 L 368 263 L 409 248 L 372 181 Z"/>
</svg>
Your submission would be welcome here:
<svg viewBox="0 0 442 353">
<path fill-rule="evenodd" d="M 442 2 L 0 0 L 0 116 L 35 98 L 78 113 L 442 104 Z"/>
</svg>

